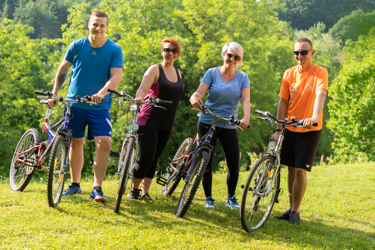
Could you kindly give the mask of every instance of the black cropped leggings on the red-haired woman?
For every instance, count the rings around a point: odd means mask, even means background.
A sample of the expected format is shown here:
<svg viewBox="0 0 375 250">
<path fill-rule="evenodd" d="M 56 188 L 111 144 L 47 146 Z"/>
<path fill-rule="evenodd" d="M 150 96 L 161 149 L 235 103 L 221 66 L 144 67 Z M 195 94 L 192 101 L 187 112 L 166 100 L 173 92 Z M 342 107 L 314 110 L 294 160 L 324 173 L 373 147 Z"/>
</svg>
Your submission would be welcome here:
<svg viewBox="0 0 375 250">
<path fill-rule="evenodd" d="M 157 161 L 163 154 L 171 133 L 154 127 L 139 126 L 137 131 L 139 159 L 134 168 L 135 178 L 154 178 Z"/>
</svg>

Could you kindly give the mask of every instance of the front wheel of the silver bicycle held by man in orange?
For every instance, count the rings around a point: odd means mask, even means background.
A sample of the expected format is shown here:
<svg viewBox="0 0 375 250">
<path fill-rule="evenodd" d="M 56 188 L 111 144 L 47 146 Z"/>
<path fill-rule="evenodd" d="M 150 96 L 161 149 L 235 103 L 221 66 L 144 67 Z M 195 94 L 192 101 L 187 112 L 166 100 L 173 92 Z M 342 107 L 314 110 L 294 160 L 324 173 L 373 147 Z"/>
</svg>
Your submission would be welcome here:
<svg viewBox="0 0 375 250">
<path fill-rule="evenodd" d="M 267 166 L 268 168 L 268 165 L 265 165 L 264 163 L 270 163 L 273 165 L 271 168 L 272 172 L 270 172 L 271 178 L 269 178 L 268 174 L 265 174 L 264 178 L 262 180 L 259 180 L 261 178 L 260 175 L 263 171 L 263 168 L 265 166 Z M 257 175 L 254 178 L 255 174 Z M 254 188 L 257 185 L 258 181 L 261 181 L 258 192 L 264 192 L 265 187 L 269 185 L 269 181 L 272 180 L 272 177 L 275 174 L 275 180 L 270 184 L 273 188 L 268 197 L 254 195 L 252 190 L 249 190 L 249 188 Z M 276 171 L 275 157 L 269 155 L 261 157 L 251 169 L 248 179 L 246 180 L 245 187 L 243 189 L 240 217 L 242 227 L 246 232 L 253 232 L 258 228 L 263 227 L 264 223 L 266 223 L 272 212 L 273 205 L 275 204 L 279 185 L 280 169 L 278 168 L 278 171 Z"/>
</svg>

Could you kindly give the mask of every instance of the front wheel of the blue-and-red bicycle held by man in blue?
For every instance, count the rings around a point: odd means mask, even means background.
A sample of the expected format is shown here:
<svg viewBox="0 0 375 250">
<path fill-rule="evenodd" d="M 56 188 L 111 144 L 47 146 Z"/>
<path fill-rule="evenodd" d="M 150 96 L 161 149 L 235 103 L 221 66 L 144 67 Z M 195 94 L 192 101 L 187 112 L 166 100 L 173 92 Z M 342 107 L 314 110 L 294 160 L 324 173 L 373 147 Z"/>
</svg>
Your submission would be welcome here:
<svg viewBox="0 0 375 250">
<path fill-rule="evenodd" d="M 52 144 L 51 153 L 48 161 L 47 174 L 47 201 L 49 207 L 55 208 L 61 200 L 64 190 L 65 174 L 61 173 L 64 169 L 64 160 L 66 156 L 66 137 L 56 135 L 57 138 Z M 60 173 L 57 173 L 60 172 Z"/>
</svg>

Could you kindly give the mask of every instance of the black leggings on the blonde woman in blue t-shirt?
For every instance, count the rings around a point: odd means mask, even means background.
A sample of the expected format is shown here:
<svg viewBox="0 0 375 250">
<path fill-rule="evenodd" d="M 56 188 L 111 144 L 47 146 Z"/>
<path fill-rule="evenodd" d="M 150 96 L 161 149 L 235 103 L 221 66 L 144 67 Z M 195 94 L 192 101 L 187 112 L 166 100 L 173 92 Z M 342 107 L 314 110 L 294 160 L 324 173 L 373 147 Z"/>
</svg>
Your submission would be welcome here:
<svg viewBox="0 0 375 250">
<path fill-rule="evenodd" d="M 211 125 L 198 121 L 198 136 L 201 138 L 210 130 Z M 210 144 L 215 146 L 219 139 L 221 147 L 223 148 L 228 165 L 228 175 L 226 175 L 226 187 L 228 189 L 228 196 L 236 194 L 236 187 L 240 173 L 240 142 L 238 139 L 237 129 L 223 129 L 216 127 L 213 133 Z M 212 166 L 215 152 L 212 152 L 210 160 L 208 161 L 206 172 L 202 178 L 202 186 L 206 197 L 212 196 Z"/>
</svg>

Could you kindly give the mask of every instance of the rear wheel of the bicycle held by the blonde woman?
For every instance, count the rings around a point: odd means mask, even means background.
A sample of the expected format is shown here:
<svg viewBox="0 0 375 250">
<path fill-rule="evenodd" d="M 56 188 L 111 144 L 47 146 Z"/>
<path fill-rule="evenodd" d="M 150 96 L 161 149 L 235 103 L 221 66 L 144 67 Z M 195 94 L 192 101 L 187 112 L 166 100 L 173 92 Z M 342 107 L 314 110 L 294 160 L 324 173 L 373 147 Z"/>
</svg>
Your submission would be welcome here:
<svg viewBox="0 0 375 250">
<path fill-rule="evenodd" d="M 174 155 L 173 160 L 178 159 L 183 155 L 190 154 L 192 149 L 193 149 L 193 139 L 189 137 L 184 139 L 184 141 L 181 143 L 180 147 L 178 148 L 176 154 Z M 182 167 L 185 165 L 185 162 L 186 162 L 186 158 L 183 158 L 175 162 L 177 164 L 176 171 L 175 171 L 177 172 L 177 175 L 175 175 L 172 180 L 169 180 L 169 178 L 171 178 L 172 176 L 171 174 L 168 173 L 166 175 L 168 184 L 166 184 L 163 187 L 163 195 L 171 195 L 174 192 L 174 190 L 176 189 L 176 187 L 178 186 L 182 178 L 182 172 L 184 170 Z"/>
</svg>

